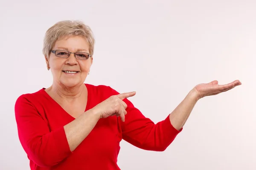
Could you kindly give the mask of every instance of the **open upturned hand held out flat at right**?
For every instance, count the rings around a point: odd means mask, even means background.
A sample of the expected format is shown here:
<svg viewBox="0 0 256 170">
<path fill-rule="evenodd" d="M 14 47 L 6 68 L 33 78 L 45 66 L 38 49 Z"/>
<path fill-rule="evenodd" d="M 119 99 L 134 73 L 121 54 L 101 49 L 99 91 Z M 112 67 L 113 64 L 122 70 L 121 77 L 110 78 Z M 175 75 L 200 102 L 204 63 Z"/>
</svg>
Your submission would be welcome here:
<svg viewBox="0 0 256 170">
<path fill-rule="evenodd" d="M 212 95 L 220 94 L 224 91 L 229 91 L 230 89 L 238 85 L 241 85 L 241 82 L 239 80 L 235 80 L 226 85 L 218 85 L 218 81 L 214 80 L 209 83 L 202 83 L 202 84 L 196 85 L 194 89 L 198 92 L 199 99 L 201 99 L 205 96 L 212 96 Z"/>
</svg>

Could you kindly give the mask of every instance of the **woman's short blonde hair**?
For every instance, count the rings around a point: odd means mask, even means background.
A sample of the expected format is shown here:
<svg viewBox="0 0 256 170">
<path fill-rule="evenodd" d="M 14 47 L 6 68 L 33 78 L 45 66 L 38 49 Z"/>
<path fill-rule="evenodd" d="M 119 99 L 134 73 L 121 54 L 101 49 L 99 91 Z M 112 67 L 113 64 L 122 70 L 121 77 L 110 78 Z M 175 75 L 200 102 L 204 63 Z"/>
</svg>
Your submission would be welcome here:
<svg viewBox="0 0 256 170">
<path fill-rule="evenodd" d="M 94 43 L 95 39 L 93 37 L 93 32 L 89 26 L 86 26 L 81 21 L 71 21 L 64 20 L 58 23 L 55 23 L 52 27 L 50 27 L 44 37 L 44 47 L 43 54 L 49 58 L 49 54 L 52 50 L 55 42 L 63 37 L 67 36 L 82 36 L 84 37 L 89 44 L 89 53 L 93 56 L 94 51 Z"/>
</svg>

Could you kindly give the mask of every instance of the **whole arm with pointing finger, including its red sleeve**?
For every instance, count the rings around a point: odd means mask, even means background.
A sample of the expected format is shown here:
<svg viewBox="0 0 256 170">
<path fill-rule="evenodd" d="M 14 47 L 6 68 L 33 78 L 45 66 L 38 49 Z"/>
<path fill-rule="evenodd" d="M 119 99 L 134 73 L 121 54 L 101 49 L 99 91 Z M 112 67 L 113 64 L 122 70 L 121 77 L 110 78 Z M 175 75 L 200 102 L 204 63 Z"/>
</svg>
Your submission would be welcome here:
<svg viewBox="0 0 256 170">
<path fill-rule="evenodd" d="M 53 131 L 49 130 L 48 123 L 32 102 L 22 95 L 15 103 L 20 143 L 29 159 L 36 164 L 41 167 L 54 166 L 79 146 L 100 118 L 116 115 L 124 120 L 127 105 L 122 99 L 134 95 L 135 93 L 126 93 L 111 96 L 64 127 Z"/>
</svg>

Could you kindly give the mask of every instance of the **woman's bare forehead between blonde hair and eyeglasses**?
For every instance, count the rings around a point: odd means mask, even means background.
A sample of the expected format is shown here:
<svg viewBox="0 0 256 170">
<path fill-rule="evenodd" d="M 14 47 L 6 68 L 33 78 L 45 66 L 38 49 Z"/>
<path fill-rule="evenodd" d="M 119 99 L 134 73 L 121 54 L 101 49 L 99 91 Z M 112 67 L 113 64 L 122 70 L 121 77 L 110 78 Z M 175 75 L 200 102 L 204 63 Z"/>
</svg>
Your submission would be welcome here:
<svg viewBox="0 0 256 170">
<path fill-rule="evenodd" d="M 53 49 L 63 49 L 70 52 L 76 52 L 78 50 L 89 52 L 89 44 L 87 40 L 81 36 L 62 37 L 55 42 Z"/>
</svg>

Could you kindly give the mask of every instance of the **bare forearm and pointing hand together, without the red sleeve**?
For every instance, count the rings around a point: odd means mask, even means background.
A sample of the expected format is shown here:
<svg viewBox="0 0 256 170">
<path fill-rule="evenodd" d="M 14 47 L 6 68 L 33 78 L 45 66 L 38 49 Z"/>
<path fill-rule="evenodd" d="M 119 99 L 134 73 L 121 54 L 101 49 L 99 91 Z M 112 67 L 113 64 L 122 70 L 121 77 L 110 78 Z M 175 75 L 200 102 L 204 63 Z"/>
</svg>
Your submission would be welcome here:
<svg viewBox="0 0 256 170">
<path fill-rule="evenodd" d="M 99 103 L 94 108 L 81 114 L 77 119 L 64 126 L 67 136 L 67 141 L 70 150 L 76 149 L 79 144 L 89 135 L 100 118 L 108 116 L 120 116 L 122 121 L 125 121 L 125 108 L 127 105 L 122 100 L 130 96 L 134 96 L 135 92 L 118 94 L 111 96 L 105 101 Z"/>
</svg>

